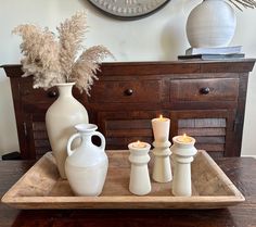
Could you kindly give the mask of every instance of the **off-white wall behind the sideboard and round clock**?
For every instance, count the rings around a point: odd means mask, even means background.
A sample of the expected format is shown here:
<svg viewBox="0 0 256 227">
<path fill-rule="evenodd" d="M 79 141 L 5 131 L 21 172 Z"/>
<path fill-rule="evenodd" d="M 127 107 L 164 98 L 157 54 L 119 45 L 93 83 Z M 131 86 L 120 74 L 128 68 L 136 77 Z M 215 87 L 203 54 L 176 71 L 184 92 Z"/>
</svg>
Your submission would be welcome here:
<svg viewBox="0 0 256 227">
<path fill-rule="evenodd" d="M 85 43 L 104 45 L 117 61 L 176 60 L 189 47 L 185 20 L 199 1 L 171 0 L 166 8 L 139 21 L 117 21 L 98 12 L 86 0 L 0 0 L 0 64 L 20 63 L 21 39 L 11 30 L 24 23 L 55 30 L 60 22 L 87 9 L 90 33 Z M 203 20 L 203 18 L 202 18 Z M 256 56 L 256 10 L 238 12 L 236 34 L 231 45 L 242 45 L 247 58 Z M 251 74 L 243 136 L 243 155 L 256 155 L 256 70 Z M 0 71 L 0 153 L 18 150 L 9 78 Z"/>
</svg>

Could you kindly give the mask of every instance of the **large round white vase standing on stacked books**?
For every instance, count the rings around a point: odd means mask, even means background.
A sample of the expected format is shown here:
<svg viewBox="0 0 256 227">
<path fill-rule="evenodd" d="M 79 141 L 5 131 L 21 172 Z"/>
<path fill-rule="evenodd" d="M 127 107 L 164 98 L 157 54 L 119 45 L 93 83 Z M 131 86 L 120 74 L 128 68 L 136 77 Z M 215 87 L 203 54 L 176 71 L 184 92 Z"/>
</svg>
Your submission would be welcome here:
<svg viewBox="0 0 256 227">
<path fill-rule="evenodd" d="M 226 47 L 233 38 L 236 17 L 225 0 L 204 0 L 187 21 L 187 37 L 193 48 Z"/>
</svg>

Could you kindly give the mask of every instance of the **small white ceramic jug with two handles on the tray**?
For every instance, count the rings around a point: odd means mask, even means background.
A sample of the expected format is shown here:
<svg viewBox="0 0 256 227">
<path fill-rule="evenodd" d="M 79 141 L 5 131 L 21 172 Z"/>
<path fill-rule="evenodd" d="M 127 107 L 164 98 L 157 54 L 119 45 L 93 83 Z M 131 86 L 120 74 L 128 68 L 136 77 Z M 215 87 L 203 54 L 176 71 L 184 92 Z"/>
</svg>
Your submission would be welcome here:
<svg viewBox="0 0 256 227">
<path fill-rule="evenodd" d="M 105 138 L 95 131 L 97 125 L 78 124 L 75 126 L 77 134 L 73 135 L 67 142 L 67 159 L 65 173 L 67 180 L 77 196 L 99 196 L 102 192 L 108 167 L 108 160 L 105 154 Z M 91 137 L 98 136 L 101 146 L 92 143 Z M 81 138 L 81 143 L 72 150 L 72 142 Z"/>
</svg>

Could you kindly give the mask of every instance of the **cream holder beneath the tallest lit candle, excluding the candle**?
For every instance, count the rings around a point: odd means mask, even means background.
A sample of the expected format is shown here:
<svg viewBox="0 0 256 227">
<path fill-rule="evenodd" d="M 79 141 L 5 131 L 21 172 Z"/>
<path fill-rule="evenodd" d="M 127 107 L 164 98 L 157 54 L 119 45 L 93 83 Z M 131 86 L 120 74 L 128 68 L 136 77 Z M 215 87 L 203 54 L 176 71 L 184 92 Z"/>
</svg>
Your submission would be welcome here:
<svg viewBox="0 0 256 227">
<path fill-rule="evenodd" d="M 157 182 L 168 182 L 172 179 L 170 168 L 170 142 L 153 142 L 154 166 L 152 178 Z"/>
</svg>

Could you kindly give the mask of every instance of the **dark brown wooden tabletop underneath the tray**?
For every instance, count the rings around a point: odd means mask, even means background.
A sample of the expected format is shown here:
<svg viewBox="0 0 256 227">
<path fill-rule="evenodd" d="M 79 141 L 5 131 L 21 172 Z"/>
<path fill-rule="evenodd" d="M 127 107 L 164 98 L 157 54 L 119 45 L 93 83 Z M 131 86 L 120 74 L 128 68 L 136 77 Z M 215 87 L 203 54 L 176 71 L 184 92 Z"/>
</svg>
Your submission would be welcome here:
<svg viewBox="0 0 256 227">
<path fill-rule="evenodd" d="M 256 227 L 256 160 L 216 161 L 246 201 L 220 210 L 41 210 L 20 211 L 0 204 L 0 227 L 176 226 Z M 33 165 L 31 161 L 0 161 L 0 196 Z"/>
</svg>

